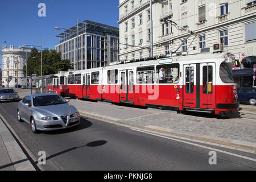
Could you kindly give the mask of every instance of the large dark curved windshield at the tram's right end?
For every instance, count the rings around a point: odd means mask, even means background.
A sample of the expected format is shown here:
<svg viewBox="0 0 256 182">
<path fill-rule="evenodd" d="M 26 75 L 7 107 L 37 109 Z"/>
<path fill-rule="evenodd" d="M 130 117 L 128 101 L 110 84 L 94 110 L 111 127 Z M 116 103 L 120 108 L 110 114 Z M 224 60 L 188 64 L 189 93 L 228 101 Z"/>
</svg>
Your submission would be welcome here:
<svg viewBox="0 0 256 182">
<path fill-rule="evenodd" d="M 232 77 L 232 64 L 228 63 L 221 63 L 220 65 L 220 78 L 224 83 L 234 83 Z"/>
</svg>

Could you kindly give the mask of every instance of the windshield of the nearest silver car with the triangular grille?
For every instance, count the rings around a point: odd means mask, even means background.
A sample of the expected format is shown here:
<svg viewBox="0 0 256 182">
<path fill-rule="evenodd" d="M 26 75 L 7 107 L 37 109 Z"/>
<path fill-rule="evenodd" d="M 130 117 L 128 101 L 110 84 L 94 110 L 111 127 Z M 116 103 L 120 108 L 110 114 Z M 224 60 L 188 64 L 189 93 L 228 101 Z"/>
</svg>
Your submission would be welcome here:
<svg viewBox="0 0 256 182">
<path fill-rule="evenodd" d="M 36 107 L 66 104 L 66 103 L 67 101 L 65 101 L 63 97 L 60 97 L 57 95 L 33 97 L 33 105 Z"/>
</svg>

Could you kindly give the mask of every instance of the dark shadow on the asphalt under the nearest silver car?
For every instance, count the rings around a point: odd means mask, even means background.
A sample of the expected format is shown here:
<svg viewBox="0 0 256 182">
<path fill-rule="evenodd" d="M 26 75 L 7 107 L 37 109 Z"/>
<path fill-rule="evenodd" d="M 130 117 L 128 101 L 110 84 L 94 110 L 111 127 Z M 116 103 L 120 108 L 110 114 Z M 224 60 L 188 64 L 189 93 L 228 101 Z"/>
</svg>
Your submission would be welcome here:
<svg viewBox="0 0 256 182">
<path fill-rule="evenodd" d="M 71 127 L 69 129 L 63 130 L 55 130 L 55 131 L 42 131 L 43 134 L 46 135 L 57 135 L 57 134 L 64 134 L 64 133 L 72 133 L 79 130 L 87 129 L 88 127 L 92 126 L 92 123 L 87 120 L 87 118 L 81 117 L 80 125 Z"/>
</svg>

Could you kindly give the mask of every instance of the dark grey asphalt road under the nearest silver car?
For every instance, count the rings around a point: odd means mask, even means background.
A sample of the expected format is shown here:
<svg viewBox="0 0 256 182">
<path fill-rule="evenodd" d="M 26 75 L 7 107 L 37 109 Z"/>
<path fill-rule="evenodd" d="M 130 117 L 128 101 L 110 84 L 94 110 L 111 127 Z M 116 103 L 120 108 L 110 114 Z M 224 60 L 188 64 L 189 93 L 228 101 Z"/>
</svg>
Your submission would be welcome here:
<svg viewBox="0 0 256 182">
<path fill-rule="evenodd" d="M 47 155 L 45 170 L 255 170 L 256 163 L 217 152 L 217 165 L 209 164 L 207 148 L 156 137 L 96 119 L 81 119 L 68 130 L 32 133 L 30 126 L 16 118 L 18 102 L 0 103 L 0 113 L 32 154 Z M 213 147 L 213 146 L 212 146 Z M 216 147 L 213 147 L 216 148 Z M 236 154 L 255 159 L 254 154 Z"/>
</svg>

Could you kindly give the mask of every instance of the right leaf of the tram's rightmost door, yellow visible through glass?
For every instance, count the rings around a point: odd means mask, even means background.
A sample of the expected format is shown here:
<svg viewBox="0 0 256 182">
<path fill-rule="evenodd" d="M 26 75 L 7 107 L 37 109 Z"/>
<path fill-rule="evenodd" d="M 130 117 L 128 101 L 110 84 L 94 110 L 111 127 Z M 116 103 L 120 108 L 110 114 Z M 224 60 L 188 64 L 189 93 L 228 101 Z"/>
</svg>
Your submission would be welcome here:
<svg viewBox="0 0 256 182">
<path fill-rule="evenodd" d="M 200 108 L 214 109 L 215 106 L 215 63 L 200 64 Z"/>
</svg>

